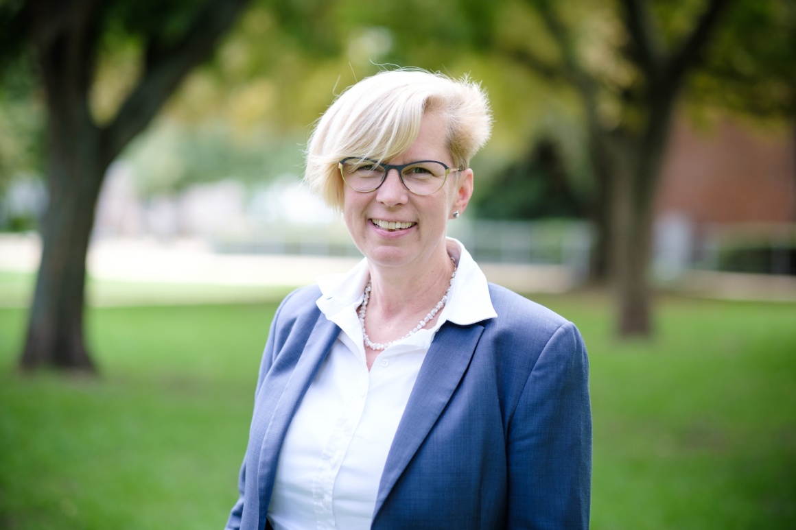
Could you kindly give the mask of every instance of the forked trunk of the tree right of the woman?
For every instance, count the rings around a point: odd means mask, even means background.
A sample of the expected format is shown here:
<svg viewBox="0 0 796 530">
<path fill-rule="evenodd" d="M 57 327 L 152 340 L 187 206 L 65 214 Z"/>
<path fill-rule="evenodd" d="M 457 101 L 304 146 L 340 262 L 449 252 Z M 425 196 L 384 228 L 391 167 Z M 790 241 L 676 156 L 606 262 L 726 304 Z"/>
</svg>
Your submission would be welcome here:
<svg viewBox="0 0 796 530">
<path fill-rule="evenodd" d="M 731 0 L 710 0 L 696 19 L 693 31 L 675 53 L 666 53 L 654 30 L 648 2 L 625 0 L 626 29 L 633 42 L 639 72 L 644 75 L 641 108 L 644 125 L 626 130 L 630 140 L 622 164 L 622 182 L 614 205 L 621 220 L 615 233 L 616 286 L 619 302 L 620 336 L 649 336 L 651 290 L 647 281 L 652 257 L 654 197 L 669 140 L 672 113 L 683 88 L 686 72 L 699 60 L 701 49 Z M 630 126 L 632 127 L 632 125 Z"/>
</svg>

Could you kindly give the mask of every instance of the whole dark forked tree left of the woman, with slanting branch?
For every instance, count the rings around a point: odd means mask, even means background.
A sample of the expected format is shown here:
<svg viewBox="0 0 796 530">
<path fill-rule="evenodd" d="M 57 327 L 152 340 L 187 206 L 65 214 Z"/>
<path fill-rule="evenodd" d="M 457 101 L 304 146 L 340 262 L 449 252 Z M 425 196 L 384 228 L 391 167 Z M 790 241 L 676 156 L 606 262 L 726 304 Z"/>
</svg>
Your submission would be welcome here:
<svg viewBox="0 0 796 530">
<path fill-rule="evenodd" d="M 212 56 L 248 0 L 29 0 L 6 2 L 0 48 L 33 61 L 44 88 L 49 205 L 23 368 L 94 371 L 84 341 L 86 254 L 109 164 L 158 113 L 185 76 Z M 140 43 L 140 75 L 100 123 L 90 95 L 109 38 Z"/>
</svg>

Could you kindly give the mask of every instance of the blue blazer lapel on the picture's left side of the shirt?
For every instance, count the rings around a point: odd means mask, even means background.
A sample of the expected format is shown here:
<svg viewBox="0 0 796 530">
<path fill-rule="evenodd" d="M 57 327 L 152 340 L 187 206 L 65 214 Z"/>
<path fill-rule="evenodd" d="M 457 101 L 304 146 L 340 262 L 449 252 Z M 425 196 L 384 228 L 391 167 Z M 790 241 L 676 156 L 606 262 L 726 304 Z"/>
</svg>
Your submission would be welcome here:
<svg viewBox="0 0 796 530">
<path fill-rule="evenodd" d="M 291 350 L 283 350 L 279 353 L 280 357 L 298 357 L 298 360 L 295 360 L 295 368 L 287 378 L 281 393 L 275 388 L 269 388 L 266 391 L 271 403 L 275 402 L 275 404 L 271 404 L 273 414 L 263 435 L 263 444 L 259 454 L 260 526 L 265 524 L 266 512 L 271 502 L 276 465 L 279 462 L 279 451 L 282 449 L 287 427 L 339 333 L 338 325 L 326 320 L 326 317 L 321 314 L 314 329 L 306 338 L 306 342 L 296 341 L 291 346 Z M 289 362 L 289 359 L 287 361 Z M 265 383 L 267 380 L 263 382 L 263 385 Z M 263 409 L 267 410 L 266 407 Z"/>
</svg>

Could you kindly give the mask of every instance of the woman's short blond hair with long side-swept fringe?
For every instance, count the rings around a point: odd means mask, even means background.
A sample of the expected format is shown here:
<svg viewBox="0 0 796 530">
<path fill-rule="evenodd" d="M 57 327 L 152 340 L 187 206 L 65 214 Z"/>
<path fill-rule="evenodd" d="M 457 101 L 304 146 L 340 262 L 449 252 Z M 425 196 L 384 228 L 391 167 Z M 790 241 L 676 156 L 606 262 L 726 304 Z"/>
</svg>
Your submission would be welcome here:
<svg viewBox="0 0 796 530">
<path fill-rule="evenodd" d="M 345 157 L 383 162 L 415 142 L 426 112 L 443 118 L 455 167 L 467 168 L 492 131 L 489 100 L 481 85 L 463 76 L 400 68 L 366 77 L 345 90 L 318 120 L 306 149 L 304 182 L 340 210 Z"/>
</svg>

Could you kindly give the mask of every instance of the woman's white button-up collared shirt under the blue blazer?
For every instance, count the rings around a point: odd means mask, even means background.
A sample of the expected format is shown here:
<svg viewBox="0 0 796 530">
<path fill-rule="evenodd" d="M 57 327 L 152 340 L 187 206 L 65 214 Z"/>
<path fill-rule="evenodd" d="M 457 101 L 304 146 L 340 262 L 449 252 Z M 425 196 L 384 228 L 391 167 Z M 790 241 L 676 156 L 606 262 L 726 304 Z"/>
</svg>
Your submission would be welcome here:
<svg viewBox="0 0 796 530">
<path fill-rule="evenodd" d="M 447 321 L 497 316 L 470 254 L 452 238 L 447 250 L 458 268 L 437 322 L 385 349 L 370 370 L 357 317 L 367 260 L 318 279 L 318 308 L 341 333 L 288 427 L 268 505 L 275 530 L 370 528 L 384 462 L 435 333 Z"/>
</svg>

